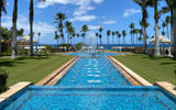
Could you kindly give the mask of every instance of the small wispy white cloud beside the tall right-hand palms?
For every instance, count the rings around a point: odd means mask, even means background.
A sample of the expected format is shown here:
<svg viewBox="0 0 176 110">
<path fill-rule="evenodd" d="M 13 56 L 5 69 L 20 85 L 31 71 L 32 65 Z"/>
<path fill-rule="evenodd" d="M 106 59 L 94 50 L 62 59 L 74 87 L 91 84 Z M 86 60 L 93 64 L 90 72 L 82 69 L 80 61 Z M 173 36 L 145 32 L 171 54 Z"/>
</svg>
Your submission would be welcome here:
<svg viewBox="0 0 176 110">
<path fill-rule="evenodd" d="M 141 10 L 138 10 L 138 9 L 128 9 L 128 10 L 124 11 L 123 16 L 128 18 L 128 16 L 136 14 L 136 13 L 141 13 Z"/>
</svg>

